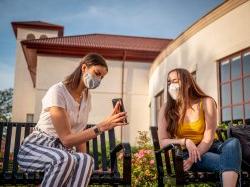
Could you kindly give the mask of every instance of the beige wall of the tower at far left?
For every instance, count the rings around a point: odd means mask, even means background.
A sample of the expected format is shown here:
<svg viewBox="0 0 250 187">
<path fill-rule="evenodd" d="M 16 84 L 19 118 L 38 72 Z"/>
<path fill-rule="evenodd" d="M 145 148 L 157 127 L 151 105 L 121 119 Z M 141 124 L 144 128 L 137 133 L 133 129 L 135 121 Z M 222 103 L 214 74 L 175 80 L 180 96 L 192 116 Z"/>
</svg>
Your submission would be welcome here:
<svg viewBox="0 0 250 187">
<path fill-rule="evenodd" d="M 12 121 L 14 122 L 26 122 L 26 114 L 34 113 L 35 89 L 33 88 L 26 59 L 20 44 L 20 41 L 25 40 L 27 35 L 30 33 L 34 34 L 36 38 L 39 38 L 42 34 L 46 34 L 48 37 L 57 36 L 57 31 L 24 28 L 17 29 L 16 65 L 12 109 Z"/>
</svg>

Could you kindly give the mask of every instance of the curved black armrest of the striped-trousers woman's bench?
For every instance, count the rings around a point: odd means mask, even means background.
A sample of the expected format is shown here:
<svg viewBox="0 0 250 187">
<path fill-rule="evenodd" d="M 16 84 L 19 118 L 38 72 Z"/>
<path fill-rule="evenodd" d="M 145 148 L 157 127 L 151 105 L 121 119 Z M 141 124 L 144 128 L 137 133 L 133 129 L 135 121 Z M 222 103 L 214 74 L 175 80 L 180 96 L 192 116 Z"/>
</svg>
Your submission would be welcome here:
<svg viewBox="0 0 250 187">
<path fill-rule="evenodd" d="M 116 172 L 117 156 L 116 153 L 123 150 L 123 180 L 131 183 L 131 147 L 129 143 L 118 144 L 110 153 L 111 171 Z"/>
</svg>

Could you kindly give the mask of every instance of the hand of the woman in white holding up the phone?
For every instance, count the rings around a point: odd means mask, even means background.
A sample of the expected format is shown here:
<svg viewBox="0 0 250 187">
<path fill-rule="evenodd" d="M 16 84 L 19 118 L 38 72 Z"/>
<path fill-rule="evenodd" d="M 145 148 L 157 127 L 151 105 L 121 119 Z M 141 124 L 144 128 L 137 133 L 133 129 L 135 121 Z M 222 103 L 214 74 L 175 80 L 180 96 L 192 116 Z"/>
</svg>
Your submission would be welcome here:
<svg viewBox="0 0 250 187">
<path fill-rule="evenodd" d="M 101 131 L 112 129 L 116 126 L 127 125 L 124 119 L 127 118 L 127 112 L 120 112 L 120 103 L 117 102 L 111 115 L 109 115 L 103 122 L 97 125 Z"/>
</svg>

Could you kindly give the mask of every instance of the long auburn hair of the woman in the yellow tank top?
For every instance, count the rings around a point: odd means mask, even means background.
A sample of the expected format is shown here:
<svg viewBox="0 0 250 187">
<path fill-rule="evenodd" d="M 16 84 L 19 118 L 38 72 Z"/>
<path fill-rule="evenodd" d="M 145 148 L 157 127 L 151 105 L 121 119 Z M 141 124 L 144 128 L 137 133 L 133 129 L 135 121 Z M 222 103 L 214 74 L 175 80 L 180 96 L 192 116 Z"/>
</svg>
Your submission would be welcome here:
<svg viewBox="0 0 250 187">
<path fill-rule="evenodd" d="M 173 138 L 176 136 L 178 126 L 183 123 L 188 107 L 191 107 L 190 99 L 196 100 L 209 97 L 197 85 L 191 73 L 186 69 L 173 69 L 168 73 L 176 72 L 178 79 L 181 81 L 180 97 L 178 100 L 173 100 L 167 91 L 167 104 L 165 108 L 165 119 L 168 124 L 167 132 Z M 169 86 L 168 88 L 169 89 Z"/>
</svg>

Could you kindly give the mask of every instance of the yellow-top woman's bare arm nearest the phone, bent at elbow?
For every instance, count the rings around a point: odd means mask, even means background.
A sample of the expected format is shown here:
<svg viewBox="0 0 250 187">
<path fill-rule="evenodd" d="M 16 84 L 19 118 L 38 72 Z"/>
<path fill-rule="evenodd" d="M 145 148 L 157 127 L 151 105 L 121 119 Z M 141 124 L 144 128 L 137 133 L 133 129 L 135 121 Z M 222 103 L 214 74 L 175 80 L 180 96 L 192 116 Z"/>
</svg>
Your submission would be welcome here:
<svg viewBox="0 0 250 187">
<path fill-rule="evenodd" d="M 160 141 L 160 146 L 164 147 L 169 144 L 180 144 L 184 145 L 185 139 L 172 139 L 170 138 L 170 134 L 167 132 L 167 122 L 164 116 L 166 104 L 164 104 L 159 112 L 158 116 L 158 136 Z"/>
</svg>

